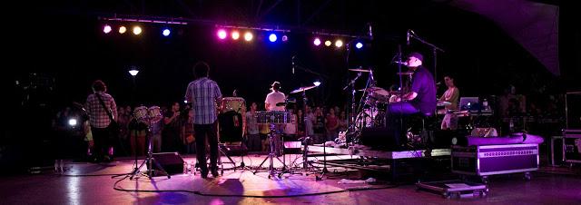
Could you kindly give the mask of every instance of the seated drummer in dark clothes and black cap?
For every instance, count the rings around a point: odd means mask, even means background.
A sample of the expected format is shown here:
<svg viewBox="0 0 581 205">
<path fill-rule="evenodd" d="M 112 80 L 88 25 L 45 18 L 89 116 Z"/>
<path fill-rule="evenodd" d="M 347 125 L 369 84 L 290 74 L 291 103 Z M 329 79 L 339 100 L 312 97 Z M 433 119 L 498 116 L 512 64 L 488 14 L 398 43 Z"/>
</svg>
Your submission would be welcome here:
<svg viewBox="0 0 581 205">
<path fill-rule="evenodd" d="M 420 113 L 423 116 L 431 116 L 436 112 L 436 83 L 434 76 L 428 71 L 422 62 L 424 57 L 419 53 L 411 53 L 406 61 L 411 75 L 411 84 L 409 88 L 404 88 L 404 93 L 398 102 L 390 103 L 388 106 L 388 126 L 393 129 L 397 145 L 403 137 L 402 127 L 398 122 L 400 117 Z"/>
</svg>

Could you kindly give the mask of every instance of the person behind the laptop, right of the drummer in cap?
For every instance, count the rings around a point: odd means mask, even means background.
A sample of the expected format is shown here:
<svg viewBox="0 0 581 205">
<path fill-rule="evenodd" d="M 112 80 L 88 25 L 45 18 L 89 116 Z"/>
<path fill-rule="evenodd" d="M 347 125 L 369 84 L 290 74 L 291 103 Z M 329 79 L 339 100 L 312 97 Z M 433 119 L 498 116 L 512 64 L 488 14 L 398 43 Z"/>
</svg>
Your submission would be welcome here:
<svg viewBox="0 0 581 205">
<path fill-rule="evenodd" d="M 438 101 L 450 102 L 450 104 L 444 105 L 444 112 L 446 115 L 444 115 L 444 119 L 442 120 L 440 127 L 442 130 L 456 130 L 458 127 L 458 116 L 456 116 L 456 114 L 450 110 L 458 110 L 458 99 L 460 97 L 460 91 L 458 90 L 458 87 L 456 87 L 454 78 L 450 74 L 444 76 L 444 83 L 446 83 L 448 90 L 442 94 Z"/>
</svg>

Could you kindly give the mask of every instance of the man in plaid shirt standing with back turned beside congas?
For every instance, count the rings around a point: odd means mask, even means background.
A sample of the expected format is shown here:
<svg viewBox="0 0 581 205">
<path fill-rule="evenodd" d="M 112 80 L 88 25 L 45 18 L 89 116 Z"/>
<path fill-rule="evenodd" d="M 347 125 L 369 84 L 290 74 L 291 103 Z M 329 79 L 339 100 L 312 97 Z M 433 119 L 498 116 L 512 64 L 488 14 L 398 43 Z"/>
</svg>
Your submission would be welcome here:
<svg viewBox="0 0 581 205">
<path fill-rule="evenodd" d="M 196 80 L 188 84 L 185 100 L 192 102 L 193 130 L 196 135 L 196 156 L 202 170 L 202 178 L 208 176 L 206 164 L 206 134 L 210 144 L 210 170 L 218 177 L 218 137 L 216 130 L 217 105 L 222 100 L 218 83 L 208 78 L 210 66 L 199 62 L 193 66 Z"/>
</svg>

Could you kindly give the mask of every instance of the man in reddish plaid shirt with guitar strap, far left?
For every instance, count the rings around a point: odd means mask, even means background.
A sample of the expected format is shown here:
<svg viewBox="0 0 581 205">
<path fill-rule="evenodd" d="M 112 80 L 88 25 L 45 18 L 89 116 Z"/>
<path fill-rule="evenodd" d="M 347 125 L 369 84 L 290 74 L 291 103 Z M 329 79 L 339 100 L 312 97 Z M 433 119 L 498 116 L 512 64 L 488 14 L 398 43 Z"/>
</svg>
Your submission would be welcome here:
<svg viewBox="0 0 581 205">
<path fill-rule="evenodd" d="M 105 83 L 103 83 L 103 81 L 94 81 L 92 88 L 93 93 L 89 94 L 87 97 L 87 101 L 85 102 L 84 107 L 89 114 L 89 122 L 91 123 L 91 132 L 93 133 L 94 139 L 94 157 L 96 161 L 112 161 L 113 137 L 117 136 L 111 136 L 111 132 L 109 132 L 107 129 L 107 126 L 109 126 L 111 123 L 109 114 L 107 112 L 113 114 L 113 120 L 116 120 L 117 105 L 115 104 L 113 97 L 106 93 L 107 86 Z M 101 97 L 101 100 L 103 100 L 107 110 L 103 108 L 103 105 L 101 102 L 99 102 L 97 95 Z M 107 152 L 105 152 L 105 150 Z"/>
</svg>

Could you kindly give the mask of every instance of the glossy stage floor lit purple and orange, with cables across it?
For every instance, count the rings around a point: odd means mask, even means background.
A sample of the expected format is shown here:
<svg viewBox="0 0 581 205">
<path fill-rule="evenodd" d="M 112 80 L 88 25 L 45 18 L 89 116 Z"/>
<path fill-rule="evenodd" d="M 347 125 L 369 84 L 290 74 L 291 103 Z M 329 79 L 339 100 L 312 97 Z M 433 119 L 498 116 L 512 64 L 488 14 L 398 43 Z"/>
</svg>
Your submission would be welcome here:
<svg viewBox="0 0 581 205">
<path fill-rule="evenodd" d="M 287 155 L 287 163 L 297 156 Z M 256 167 L 265 157 L 251 155 L 244 162 Z M 190 155 L 182 158 L 195 161 Z M 328 160 L 347 158 L 350 156 L 332 156 Z M 240 164 L 240 157 L 233 160 Z M 300 163 L 300 158 L 297 162 Z M 522 174 L 491 176 L 486 197 L 447 200 L 435 193 L 417 191 L 412 183 L 398 186 L 381 180 L 375 184 L 339 183 L 344 178 L 363 176 L 359 171 L 350 171 L 348 175 L 332 173 L 324 176 L 323 181 L 316 181 L 317 174 L 312 172 L 284 174 L 282 179 L 272 180 L 268 172 L 253 174 L 248 170 L 224 171 L 215 179 L 212 176 L 202 179 L 198 173 L 175 174 L 171 179 L 160 176 L 149 180 L 142 176 L 129 180 L 123 179 L 124 175 L 112 179 L 111 174 L 131 172 L 130 158 L 103 164 L 68 161 L 65 166 L 68 171 L 64 175 L 43 171 L 0 177 L 0 204 L 578 204 L 581 201 L 578 167 L 565 168 L 559 174 L 543 168 L 533 172 L 531 181 L 523 180 Z M 281 163 L 275 166 L 280 167 Z M 264 167 L 268 167 L 268 161 Z"/>
</svg>

